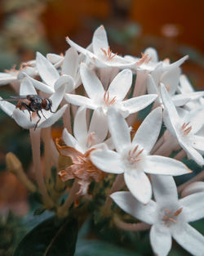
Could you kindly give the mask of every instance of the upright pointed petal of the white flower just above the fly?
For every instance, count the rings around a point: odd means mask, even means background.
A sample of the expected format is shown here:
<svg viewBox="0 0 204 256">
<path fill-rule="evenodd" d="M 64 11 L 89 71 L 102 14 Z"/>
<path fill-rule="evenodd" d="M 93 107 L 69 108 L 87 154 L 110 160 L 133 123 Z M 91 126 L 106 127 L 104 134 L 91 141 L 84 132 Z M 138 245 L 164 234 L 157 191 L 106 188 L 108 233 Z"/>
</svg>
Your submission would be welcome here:
<svg viewBox="0 0 204 256">
<path fill-rule="evenodd" d="M 40 52 L 37 52 L 36 67 L 42 80 L 47 84 L 54 86 L 54 83 L 59 79 L 60 74 L 55 69 L 54 65 L 52 65 Z"/>
</svg>

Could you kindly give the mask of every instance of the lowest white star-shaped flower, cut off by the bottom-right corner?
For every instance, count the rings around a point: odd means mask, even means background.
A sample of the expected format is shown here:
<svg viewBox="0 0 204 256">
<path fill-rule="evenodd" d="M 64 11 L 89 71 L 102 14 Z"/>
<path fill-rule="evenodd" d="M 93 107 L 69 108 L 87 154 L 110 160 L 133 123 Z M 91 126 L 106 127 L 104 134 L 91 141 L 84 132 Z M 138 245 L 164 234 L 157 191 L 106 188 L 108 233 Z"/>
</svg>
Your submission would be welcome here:
<svg viewBox="0 0 204 256">
<path fill-rule="evenodd" d="M 178 200 L 173 177 L 152 175 L 154 199 L 141 204 L 130 192 L 116 192 L 113 200 L 126 213 L 152 225 L 150 242 L 157 256 L 166 256 L 171 249 L 171 236 L 194 256 L 204 255 L 204 237 L 188 222 L 204 217 L 204 193 L 195 193 Z"/>
</svg>

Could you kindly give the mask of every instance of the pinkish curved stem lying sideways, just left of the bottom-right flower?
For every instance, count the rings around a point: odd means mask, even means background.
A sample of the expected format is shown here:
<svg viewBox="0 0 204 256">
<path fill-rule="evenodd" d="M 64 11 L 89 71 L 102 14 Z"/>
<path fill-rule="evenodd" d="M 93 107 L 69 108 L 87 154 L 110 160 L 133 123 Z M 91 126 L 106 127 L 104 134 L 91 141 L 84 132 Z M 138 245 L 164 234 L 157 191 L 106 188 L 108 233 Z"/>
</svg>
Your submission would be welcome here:
<svg viewBox="0 0 204 256">
<path fill-rule="evenodd" d="M 122 220 L 119 219 L 118 217 L 114 217 L 113 222 L 117 227 L 125 231 L 145 231 L 151 227 L 149 224 L 144 222 L 139 222 L 139 223 L 122 222 Z"/>
</svg>

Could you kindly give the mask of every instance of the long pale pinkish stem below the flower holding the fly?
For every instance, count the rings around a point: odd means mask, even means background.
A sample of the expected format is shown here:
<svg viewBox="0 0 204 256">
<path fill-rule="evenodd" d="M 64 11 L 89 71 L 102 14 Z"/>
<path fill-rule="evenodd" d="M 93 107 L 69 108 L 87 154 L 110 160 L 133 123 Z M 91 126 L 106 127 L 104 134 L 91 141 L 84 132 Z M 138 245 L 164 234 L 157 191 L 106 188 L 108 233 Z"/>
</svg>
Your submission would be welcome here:
<svg viewBox="0 0 204 256">
<path fill-rule="evenodd" d="M 35 169 L 35 177 L 38 183 L 39 191 L 42 195 L 43 203 L 49 209 L 53 207 L 53 202 L 50 196 L 47 194 L 47 188 L 44 182 L 44 177 L 41 170 L 41 158 L 40 158 L 40 133 L 41 129 L 38 128 L 36 131 L 33 129 L 29 129 L 30 132 L 30 140 L 33 152 L 33 165 Z"/>
</svg>

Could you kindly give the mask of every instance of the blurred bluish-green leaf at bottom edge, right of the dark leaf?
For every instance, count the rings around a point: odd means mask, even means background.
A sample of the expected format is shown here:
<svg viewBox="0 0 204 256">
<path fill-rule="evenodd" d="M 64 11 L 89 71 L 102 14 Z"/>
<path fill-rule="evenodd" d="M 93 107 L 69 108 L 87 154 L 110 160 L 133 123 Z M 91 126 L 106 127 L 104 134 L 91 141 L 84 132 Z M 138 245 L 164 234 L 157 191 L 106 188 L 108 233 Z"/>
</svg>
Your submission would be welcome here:
<svg viewBox="0 0 204 256">
<path fill-rule="evenodd" d="M 133 251 L 99 240 L 79 240 L 74 256 L 141 256 Z"/>
</svg>

